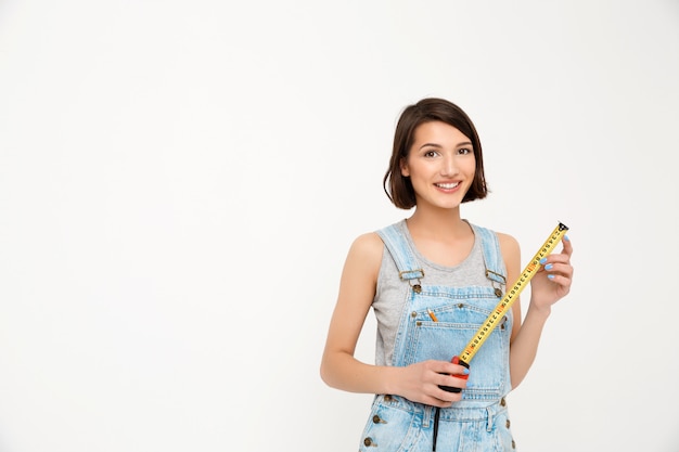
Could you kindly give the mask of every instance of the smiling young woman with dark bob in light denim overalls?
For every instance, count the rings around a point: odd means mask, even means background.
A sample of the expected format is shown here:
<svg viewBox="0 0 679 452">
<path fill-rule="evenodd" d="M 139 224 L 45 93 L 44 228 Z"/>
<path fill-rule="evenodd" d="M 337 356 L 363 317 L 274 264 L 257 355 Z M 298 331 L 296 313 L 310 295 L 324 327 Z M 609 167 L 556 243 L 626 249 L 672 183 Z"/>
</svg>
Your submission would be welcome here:
<svg viewBox="0 0 679 452">
<path fill-rule="evenodd" d="M 567 237 L 535 274 L 470 369 L 451 363 L 521 272 L 517 242 L 462 219 L 487 194 L 481 142 L 467 115 L 443 99 L 408 106 L 396 127 L 385 192 L 410 218 L 351 245 L 330 323 L 321 377 L 376 395 L 361 451 L 511 451 L 504 397 L 530 367 L 551 307 L 573 276 Z M 375 364 L 354 358 L 373 308 Z"/>
</svg>

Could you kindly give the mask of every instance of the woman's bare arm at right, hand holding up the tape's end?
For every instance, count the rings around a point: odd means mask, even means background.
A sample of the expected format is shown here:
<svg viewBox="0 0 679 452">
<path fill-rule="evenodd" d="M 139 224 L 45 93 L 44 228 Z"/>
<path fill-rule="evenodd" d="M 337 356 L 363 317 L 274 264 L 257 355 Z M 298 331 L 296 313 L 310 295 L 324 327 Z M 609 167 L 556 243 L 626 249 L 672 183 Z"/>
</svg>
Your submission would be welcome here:
<svg viewBox="0 0 679 452">
<path fill-rule="evenodd" d="M 518 244 L 509 235 L 499 234 L 499 236 L 502 256 L 508 269 L 508 284 L 514 284 L 521 271 Z M 514 327 L 512 328 L 510 346 L 512 388 L 516 388 L 523 382 L 535 361 L 542 328 L 551 313 L 552 305 L 569 292 L 573 277 L 572 253 L 573 246 L 571 242 L 564 238 L 562 253 L 548 256 L 547 262 L 533 276 L 530 281 L 530 304 L 523 323 L 521 301 L 516 300 L 512 306 L 514 315 Z M 551 267 L 548 267 L 549 264 Z M 552 275 L 552 279 L 548 277 L 548 275 Z"/>
</svg>

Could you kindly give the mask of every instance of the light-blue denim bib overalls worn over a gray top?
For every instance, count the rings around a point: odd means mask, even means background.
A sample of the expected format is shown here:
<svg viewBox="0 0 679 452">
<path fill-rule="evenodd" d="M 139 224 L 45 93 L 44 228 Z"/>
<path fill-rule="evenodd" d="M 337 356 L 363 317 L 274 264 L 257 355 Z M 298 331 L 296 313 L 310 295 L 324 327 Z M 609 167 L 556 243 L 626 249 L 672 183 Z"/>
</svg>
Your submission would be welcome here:
<svg viewBox="0 0 679 452">
<path fill-rule="evenodd" d="M 482 241 L 487 286 L 431 286 L 402 234 L 390 225 L 377 231 L 392 255 L 409 298 L 400 315 L 393 365 L 425 360 L 450 361 L 498 305 L 496 288 L 504 289 L 504 263 L 497 235 L 472 225 Z M 488 272 L 490 270 L 490 272 Z M 434 321 L 427 309 L 436 318 Z M 511 312 L 502 320 L 470 363 L 462 400 L 440 409 L 436 435 L 439 452 L 513 451 L 504 396 L 511 389 L 509 343 Z M 434 445 L 434 406 L 400 396 L 377 395 L 363 430 L 360 451 L 425 452 Z"/>
</svg>

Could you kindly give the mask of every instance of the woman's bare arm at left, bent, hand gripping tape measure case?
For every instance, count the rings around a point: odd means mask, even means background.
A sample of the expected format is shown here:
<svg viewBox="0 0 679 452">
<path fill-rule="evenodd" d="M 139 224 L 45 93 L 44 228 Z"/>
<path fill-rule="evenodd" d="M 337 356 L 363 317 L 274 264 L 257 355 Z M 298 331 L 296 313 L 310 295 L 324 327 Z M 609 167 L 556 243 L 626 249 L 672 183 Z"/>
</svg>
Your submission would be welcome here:
<svg viewBox="0 0 679 452">
<path fill-rule="evenodd" d="M 349 249 L 321 361 L 321 378 L 333 388 L 350 392 L 399 395 L 412 401 L 450 406 L 461 395 L 447 392 L 438 385 L 463 388 L 465 380 L 450 376 L 461 374 L 462 366 L 445 361 L 406 367 L 377 366 L 354 358 L 375 295 L 383 249 L 376 234 L 361 235 Z"/>
</svg>

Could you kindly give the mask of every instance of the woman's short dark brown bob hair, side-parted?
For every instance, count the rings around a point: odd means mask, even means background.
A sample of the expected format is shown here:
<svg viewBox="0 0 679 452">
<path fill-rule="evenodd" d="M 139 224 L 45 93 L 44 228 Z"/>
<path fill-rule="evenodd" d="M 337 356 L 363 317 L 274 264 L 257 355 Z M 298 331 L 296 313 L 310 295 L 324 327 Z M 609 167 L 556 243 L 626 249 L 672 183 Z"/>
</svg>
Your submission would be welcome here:
<svg viewBox="0 0 679 452">
<path fill-rule="evenodd" d="M 461 131 L 472 142 L 476 168 L 474 181 L 464 194 L 462 202 L 466 203 L 486 197 L 488 189 L 484 175 L 484 158 L 481 150 L 481 140 L 474 124 L 466 113 L 456 104 L 444 99 L 430 98 L 407 106 L 396 125 L 389 169 L 387 169 L 383 180 L 384 192 L 389 201 L 400 209 L 410 209 L 418 204 L 410 178 L 401 175 L 401 162 L 408 158 L 418 126 L 431 121 L 441 121 L 450 125 Z"/>
</svg>

